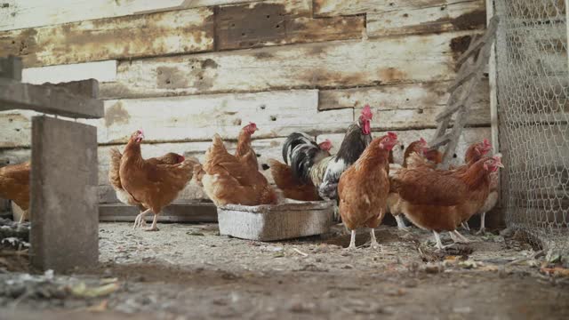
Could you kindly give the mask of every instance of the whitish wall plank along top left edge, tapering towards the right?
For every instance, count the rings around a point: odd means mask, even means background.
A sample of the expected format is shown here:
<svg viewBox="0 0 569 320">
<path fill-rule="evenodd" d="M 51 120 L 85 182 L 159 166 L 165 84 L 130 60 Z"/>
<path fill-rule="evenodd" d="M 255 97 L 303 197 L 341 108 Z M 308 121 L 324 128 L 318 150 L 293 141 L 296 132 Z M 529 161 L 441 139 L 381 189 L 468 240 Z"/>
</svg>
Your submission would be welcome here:
<svg viewBox="0 0 569 320">
<path fill-rule="evenodd" d="M 253 1 L 261 0 L 4 0 L 0 5 L 0 31 Z"/>
</svg>

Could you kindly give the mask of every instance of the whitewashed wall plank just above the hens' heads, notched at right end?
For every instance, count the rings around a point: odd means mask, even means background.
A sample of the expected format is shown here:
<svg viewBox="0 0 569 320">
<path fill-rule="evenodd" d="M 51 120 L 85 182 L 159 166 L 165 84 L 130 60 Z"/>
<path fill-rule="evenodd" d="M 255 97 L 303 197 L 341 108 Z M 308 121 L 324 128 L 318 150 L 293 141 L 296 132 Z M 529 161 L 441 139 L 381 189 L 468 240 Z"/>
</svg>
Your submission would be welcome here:
<svg viewBox="0 0 569 320">
<path fill-rule="evenodd" d="M 0 114 L 0 148 L 27 147 L 33 112 Z M 105 117 L 78 120 L 97 126 L 99 143 L 124 143 L 143 129 L 149 141 L 210 140 L 215 133 L 236 140 L 249 122 L 255 138 L 291 132 L 342 132 L 353 121 L 351 109 L 318 111 L 317 90 L 216 94 L 170 98 L 106 100 Z"/>
</svg>

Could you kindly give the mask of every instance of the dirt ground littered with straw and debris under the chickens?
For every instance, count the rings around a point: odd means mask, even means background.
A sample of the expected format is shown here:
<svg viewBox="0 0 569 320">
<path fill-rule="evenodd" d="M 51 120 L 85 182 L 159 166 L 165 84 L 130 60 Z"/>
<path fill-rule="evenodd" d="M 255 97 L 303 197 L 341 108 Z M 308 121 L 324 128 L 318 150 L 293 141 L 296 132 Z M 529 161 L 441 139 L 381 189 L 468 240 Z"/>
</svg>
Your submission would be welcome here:
<svg viewBox="0 0 569 320">
<path fill-rule="evenodd" d="M 555 261 L 512 232 L 462 232 L 471 244 L 437 252 L 427 232 L 381 227 L 381 250 L 349 252 L 341 226 L 275 243 L 219 236 L 215 224 L 159 227 L 101 223 L 101 266 L 71 276 L 0 257 L 16 268 L 0 273 L 0 318 L 569 318 L 569 277 L 548 274 Z M 362 230 L 357 244 L 368 240 Z"/>
</svg>

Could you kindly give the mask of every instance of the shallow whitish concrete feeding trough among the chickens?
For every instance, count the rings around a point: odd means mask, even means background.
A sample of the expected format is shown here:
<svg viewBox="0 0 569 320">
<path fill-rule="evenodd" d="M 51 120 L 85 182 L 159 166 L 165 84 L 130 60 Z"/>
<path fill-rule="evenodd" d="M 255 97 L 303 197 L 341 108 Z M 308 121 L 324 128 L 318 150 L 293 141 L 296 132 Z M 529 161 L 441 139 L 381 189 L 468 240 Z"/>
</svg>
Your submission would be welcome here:
<svg viewBox="0 0 569 320">
<path fill-rule="evenodd" d="M 333 202 L 286 199 L 283 204 L 227 204 L 218 207 L 217 214 L 220 235 L 275 241 L 329 232 Z"/>
</svg>

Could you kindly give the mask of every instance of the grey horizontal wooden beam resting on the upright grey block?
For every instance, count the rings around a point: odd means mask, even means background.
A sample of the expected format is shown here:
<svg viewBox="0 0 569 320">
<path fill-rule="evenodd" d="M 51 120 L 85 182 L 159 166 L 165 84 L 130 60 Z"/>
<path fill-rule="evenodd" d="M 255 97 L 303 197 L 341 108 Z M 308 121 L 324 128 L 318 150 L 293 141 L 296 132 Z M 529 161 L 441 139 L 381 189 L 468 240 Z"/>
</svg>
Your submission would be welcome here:
<svg viewBox="0 0 569 320">
<path fill-rule="evenodd" d="M 12 109 L 31 109 L 70 117 L 103 116 L 103 102 L 100 100 L 71 94 L 61 88 L 21 84 L 16 80 L 0 78 L 0 111 Z"/>
</svg>

